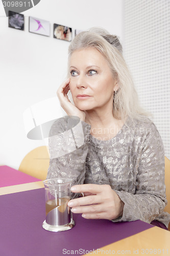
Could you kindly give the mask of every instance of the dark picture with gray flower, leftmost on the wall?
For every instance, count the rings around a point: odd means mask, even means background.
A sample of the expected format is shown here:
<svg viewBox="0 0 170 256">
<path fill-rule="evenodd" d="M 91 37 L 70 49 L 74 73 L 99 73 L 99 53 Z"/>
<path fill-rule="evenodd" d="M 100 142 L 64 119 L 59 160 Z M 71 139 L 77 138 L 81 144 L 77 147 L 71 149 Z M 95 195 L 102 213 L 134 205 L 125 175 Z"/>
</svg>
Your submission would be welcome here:
<svg viewBox="0 0 170 256">
<path fill-rule="evenodd" d="M 8 27 L 14 29 L 24 30 L 24 16 L 23 14 L 8 11 Z"/>
</svg>

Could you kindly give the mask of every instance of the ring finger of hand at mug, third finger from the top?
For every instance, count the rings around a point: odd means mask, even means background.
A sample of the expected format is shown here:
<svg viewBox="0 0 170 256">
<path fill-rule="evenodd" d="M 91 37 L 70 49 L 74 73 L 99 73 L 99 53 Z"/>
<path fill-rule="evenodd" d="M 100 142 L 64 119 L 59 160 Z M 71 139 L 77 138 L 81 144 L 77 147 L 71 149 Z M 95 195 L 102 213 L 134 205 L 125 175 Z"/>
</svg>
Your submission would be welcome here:
<svg viewBox="0 0 170 256">
<path fill-rule="evenodd" d="M 71 211 L 74 212 L 74 214 L 93 214 L 93 213 L 98 214 L 103 210 L 102 210 L 101 204 L 93 204 L 93 205 L 72 207 Z"/>
</svg>

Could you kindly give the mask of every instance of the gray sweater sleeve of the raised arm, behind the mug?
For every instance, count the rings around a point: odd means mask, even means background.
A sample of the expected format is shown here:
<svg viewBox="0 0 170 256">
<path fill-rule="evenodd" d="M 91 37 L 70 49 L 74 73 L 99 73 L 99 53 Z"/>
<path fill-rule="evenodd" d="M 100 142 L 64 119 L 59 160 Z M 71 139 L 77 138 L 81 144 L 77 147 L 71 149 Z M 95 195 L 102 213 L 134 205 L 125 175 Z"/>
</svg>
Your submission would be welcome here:
<svg viewBox="0 0 170 256">
<path fill-rule="evenodd" d="M 65 116 L 53 123 L 48 139 L 47 179 L 71 178 L 72 185 L 84 183 L 89 133 L 90 125 L 75 116 Z"/>
</svg>

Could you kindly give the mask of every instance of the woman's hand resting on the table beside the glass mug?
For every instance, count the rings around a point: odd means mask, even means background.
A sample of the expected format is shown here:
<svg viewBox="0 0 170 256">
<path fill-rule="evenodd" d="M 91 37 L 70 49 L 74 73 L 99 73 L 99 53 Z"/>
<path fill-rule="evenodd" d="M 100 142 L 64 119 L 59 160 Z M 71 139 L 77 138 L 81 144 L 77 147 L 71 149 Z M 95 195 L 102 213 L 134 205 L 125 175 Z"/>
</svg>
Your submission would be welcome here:
<svg viewBox="0 0 170 256">
<path fill-rule="evenodd" d="M 68 202 L 71 211 L 82 214 L 85 219 L 113 220 L 123 215 L 124 203 L 110 185 L 75 185 L 71 191 L 85 194 Z"/>
</svg>

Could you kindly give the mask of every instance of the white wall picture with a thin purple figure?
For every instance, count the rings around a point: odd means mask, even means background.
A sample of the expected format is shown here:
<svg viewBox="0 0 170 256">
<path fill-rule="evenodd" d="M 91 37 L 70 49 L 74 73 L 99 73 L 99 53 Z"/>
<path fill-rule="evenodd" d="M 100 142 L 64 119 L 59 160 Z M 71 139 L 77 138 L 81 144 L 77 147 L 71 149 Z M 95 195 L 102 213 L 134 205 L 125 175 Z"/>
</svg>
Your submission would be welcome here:
<svg viewBox="0 0 170 256">
<path fill-rule="evenodd" d="M 29 32 L 50 36 L 50 22 L 44 19 L 29 17 Z"/>
</svg>

